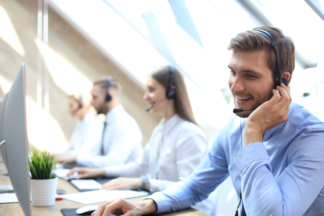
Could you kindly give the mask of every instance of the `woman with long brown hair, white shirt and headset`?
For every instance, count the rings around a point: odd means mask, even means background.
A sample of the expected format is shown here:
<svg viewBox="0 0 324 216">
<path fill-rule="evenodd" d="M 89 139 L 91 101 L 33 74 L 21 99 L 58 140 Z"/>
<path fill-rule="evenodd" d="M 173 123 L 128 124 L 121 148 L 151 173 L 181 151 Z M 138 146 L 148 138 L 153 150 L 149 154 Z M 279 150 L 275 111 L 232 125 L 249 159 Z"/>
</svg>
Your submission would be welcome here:
<svg viewBox="0 0 324 216">
<path fill-rule="evenodd" d="M 155 69 L 148 75 L 144 99 L 150 104 L 147 111 L 164 118 L 145 145 L 143 157 L 104 168 L 76 167 L 68 176 L 74 172 L 79 173 L 78 178 L 121 176 L 103 184 L 102 188 L 156 192 L 191 174 L 206 155 L 208 146 L 206 133 L 194 119 L 182 75 L 172 66 Z M 211 197 L 215 199 L 215 194 Z M 210 214 L 214 199 L 192 207 Z"/>
</svg>

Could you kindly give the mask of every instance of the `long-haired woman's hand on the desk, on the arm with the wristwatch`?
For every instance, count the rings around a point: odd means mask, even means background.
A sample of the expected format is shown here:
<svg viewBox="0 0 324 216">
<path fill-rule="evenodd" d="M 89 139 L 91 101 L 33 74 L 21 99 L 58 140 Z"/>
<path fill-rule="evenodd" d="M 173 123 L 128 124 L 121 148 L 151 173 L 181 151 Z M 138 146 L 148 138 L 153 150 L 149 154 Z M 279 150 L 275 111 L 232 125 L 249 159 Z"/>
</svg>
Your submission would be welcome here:
<svg viewBox="0 0 324 216">
<path fill-rule="evenodd" d="M 106 190 L 137 190 L 142 186 L 141 178 L 118 177 L 103 184 L 100 189 Z M 146 190 L 150 188 L 150 182 L 146 184 Z"/>
</svg>

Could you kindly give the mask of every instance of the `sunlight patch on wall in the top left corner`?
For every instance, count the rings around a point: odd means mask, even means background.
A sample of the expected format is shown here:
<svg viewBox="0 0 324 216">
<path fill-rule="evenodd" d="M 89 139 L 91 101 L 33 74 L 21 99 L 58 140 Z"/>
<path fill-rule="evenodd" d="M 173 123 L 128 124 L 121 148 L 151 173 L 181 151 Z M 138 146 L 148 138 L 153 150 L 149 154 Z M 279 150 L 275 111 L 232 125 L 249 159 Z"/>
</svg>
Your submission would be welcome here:
<svg viewBox="0 0 324 216">
<path fill-rule="evenodd" d="M 17 36 L 14 26 L 6 10 L 0 6 L 0 38 L 4 40 L 12 49 L 18 52 L 22 57 L 26 56 L 25 50 Z"/>
</svg>

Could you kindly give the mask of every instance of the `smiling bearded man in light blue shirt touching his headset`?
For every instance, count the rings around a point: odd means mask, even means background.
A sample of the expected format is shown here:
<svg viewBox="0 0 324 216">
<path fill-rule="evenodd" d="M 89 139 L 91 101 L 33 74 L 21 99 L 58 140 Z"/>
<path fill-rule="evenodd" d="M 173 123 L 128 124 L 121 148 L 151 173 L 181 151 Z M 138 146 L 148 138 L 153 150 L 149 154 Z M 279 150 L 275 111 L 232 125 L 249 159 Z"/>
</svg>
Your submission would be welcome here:
<svg viewBox="0 0 324 216">
<path fill-rule="evenodd" d="M 278 28 L 256 29 L 238 34 L 228 46 L 235 107 L 249 111 L 228 121 L 183 182 L 138 203 L 106 202 L 92 215 L 185 209 L 206 199 L 229 175 L 243 216 L 324 215 L 324 123 L 291 102 L 290 87 L 280 82 L 288 85 L 295 68 L 293 40 Z"/>
</svg>

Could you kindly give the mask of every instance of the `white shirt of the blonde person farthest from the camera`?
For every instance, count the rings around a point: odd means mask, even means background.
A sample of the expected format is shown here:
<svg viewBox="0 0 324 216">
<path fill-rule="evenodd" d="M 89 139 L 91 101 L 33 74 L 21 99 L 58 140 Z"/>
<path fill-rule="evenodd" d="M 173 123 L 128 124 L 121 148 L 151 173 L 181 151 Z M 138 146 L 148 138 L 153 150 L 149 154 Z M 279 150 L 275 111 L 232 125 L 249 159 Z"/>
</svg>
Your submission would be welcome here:
<svg viewBox="0 0 324 216">
<path fill-rule="evenodd" d="M 95 155 L 95 147 L 101 141 L 103 123 L 88 112 L 87 115 L 78 121 L 69 141 L 68 152 L 71 155 L 87 153 Z"/>
</svg>

